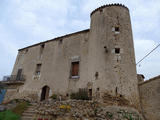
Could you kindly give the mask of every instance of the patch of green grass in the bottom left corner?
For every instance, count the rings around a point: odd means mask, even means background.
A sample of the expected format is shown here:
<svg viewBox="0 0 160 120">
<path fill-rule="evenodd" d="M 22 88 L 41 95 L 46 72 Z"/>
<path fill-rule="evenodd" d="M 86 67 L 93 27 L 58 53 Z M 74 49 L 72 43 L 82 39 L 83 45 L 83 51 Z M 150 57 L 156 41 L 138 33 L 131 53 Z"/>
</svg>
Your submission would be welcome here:
<svg viewBox="0 0 160 120">
<path fill-rule="evenodd" d="M 0 112 L 0 120 L 20 120 L 20 115 L 13 113 L 11 110 Z"/>
</svg>

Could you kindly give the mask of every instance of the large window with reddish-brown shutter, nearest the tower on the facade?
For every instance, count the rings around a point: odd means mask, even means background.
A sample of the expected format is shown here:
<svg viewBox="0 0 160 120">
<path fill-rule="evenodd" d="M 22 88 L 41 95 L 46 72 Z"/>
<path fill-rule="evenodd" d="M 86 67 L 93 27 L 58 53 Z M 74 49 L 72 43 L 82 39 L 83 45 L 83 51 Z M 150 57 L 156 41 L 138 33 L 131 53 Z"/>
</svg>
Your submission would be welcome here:
<svg viewBox="0 0 160 120">
<path fill-rule="evenodd" d="M 71 77 L 78 77 L 79 76 L 79 61 L 72 62 L 71 65 Z"/>
</svg>

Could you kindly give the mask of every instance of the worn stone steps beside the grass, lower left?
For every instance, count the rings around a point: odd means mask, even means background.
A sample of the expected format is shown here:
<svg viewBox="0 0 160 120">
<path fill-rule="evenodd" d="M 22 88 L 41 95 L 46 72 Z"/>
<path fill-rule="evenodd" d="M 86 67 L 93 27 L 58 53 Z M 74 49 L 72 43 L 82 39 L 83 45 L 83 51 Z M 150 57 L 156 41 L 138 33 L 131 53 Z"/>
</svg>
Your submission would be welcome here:
<svg viewBox="0 0 160 120">
<path fill-rule="evenodd" d="M 36 104 L 31 104 L 22 114 L 21 120 L 33 120 Z"/>
</svg>

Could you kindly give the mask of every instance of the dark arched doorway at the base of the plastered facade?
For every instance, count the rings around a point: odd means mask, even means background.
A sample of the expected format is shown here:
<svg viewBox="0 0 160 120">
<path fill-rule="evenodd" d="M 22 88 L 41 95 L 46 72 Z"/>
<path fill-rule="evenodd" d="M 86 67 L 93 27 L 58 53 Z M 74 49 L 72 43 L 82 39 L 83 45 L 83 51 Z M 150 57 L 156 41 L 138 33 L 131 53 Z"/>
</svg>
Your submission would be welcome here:
<svg viewBox="0 0 160 120">
<path fill-rule="evenodd" d="M 49 90 L 50 90 L 50 88 L 48 86 L 44 86 L 42 88 L 41 101 L 48 99 L 48 97 L 49 97 Z"/>
</svg>

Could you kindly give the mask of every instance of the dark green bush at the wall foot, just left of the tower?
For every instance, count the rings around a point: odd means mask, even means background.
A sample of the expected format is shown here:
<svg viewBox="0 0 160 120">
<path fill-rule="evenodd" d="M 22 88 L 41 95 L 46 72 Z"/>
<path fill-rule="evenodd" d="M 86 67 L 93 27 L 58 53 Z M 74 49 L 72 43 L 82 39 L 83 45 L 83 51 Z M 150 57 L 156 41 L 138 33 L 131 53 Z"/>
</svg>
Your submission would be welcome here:
<svg viewBox="0 0 160 120">
<path fill-rule="evenodd" d="M 71 93 L 70 98 L 76 99 L 76 100 L 89 100 L 88 90 L 87 89 L 79 89 L 78 92 Z"/>
</svg>

